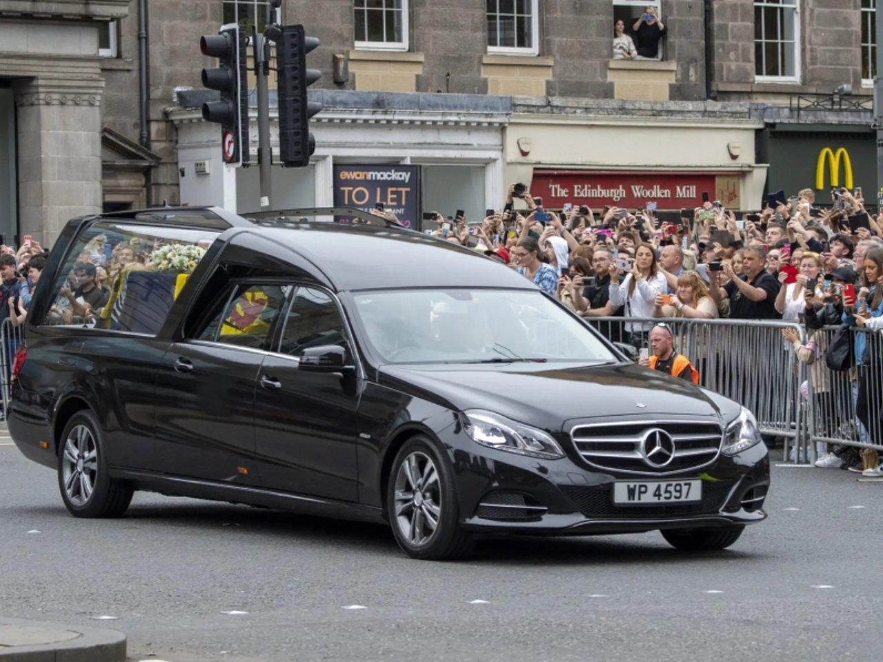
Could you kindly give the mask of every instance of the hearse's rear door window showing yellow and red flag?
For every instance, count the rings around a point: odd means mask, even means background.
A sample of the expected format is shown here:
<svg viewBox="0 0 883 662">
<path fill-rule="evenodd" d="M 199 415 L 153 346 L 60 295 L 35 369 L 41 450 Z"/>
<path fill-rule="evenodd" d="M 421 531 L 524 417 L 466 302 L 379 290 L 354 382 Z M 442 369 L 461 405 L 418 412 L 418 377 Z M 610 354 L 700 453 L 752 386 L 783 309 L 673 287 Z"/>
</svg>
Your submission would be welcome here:
<svg viewBox="0 0 883 662">
<path fill-rule="evenodd" d="M 197 337 L 256 350 L 268 347 L 273 322 L 285 302 L 285 288 L 278 285 L 241 285 L 230 299 L 224 297 L 218 314 Z"/>
</svg>

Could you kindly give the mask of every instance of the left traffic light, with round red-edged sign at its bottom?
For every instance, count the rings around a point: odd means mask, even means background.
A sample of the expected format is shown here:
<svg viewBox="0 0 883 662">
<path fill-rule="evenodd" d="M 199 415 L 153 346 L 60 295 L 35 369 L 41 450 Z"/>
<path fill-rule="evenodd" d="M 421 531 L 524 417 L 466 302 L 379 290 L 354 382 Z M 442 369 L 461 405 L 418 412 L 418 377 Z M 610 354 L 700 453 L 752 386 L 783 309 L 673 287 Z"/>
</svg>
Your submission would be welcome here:
<svg viewBox="0 0 883 662">
<path fill-rule="evenodd" d="M 221 124 L 223 160 L 235 165 L 249 161 L 247 48 L 248 35 L 235 24 L 200 40 L 202 55 L 220 60 L 218 69 L 202 70 L 202 85 L 221 93 L 221 101 L 202 104 L 202 117 Z"/>
</svg>

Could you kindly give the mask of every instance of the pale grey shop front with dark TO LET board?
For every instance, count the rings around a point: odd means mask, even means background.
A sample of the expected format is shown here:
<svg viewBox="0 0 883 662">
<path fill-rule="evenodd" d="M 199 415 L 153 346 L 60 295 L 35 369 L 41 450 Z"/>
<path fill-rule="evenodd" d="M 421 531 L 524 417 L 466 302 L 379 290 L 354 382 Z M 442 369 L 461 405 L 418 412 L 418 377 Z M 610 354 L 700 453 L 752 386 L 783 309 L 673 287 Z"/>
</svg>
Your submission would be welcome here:
<svg viewBox="0 0 883 662">
<path fill-rule="evenodd" d="M 422 212 L 453 216 L 463 210 L 479 221 L 499 207 L 502 190 L 502 128 L 508 98 L 459 95 L 335 94 L 323 91 L 311 132 L 316 153 L 306 168 L 274 167 L 270 208 L 378 204 L 410 227 L 422 229 Z M 178 129 L 181 200 L 220 205 L 240 214 L 260 210 L 257 116 L 253 112 L 253 167 L 232 169 L 221 161 L 221 132 L 200 111 L 171 111 Z M 278 162 L 275 109 L 270 113 Z"/>
</svg>

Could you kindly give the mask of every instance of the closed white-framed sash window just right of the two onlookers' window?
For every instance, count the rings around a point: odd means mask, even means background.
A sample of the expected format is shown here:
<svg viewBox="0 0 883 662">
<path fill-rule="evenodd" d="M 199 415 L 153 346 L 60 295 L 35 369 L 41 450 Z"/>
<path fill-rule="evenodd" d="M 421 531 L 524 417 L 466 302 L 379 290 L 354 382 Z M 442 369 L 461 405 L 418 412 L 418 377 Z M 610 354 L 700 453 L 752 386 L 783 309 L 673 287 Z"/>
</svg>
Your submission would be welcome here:
<svg viewBox="0 0 883 662">
<path fill-rule="evenodd" d="M 799 81 L 797 0 L 754 0 L 754 66 L 761 82 Z"/>
</svg>

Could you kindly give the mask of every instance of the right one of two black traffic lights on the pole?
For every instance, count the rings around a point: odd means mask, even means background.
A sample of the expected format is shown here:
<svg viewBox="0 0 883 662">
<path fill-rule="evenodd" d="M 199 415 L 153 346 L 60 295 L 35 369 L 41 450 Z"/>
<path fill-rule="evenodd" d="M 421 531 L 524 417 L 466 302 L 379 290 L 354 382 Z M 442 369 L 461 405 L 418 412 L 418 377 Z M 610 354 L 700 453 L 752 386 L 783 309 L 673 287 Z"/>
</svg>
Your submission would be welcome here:
<svg viewBox="0 0 883 662">
<path fill-rule="evenodd" d="M 306 90 L 322 75 L 306 68 L 306 54 L 319 47 L 319 40 L 307 37 L 304 26 L 279 26 L 272 33 L 279 76 L 279 154 L 287 168 L 300 168 L 310 164 L 316 151 L 310 117 L 322 104 L 307 101 Z"/>
</svg>

